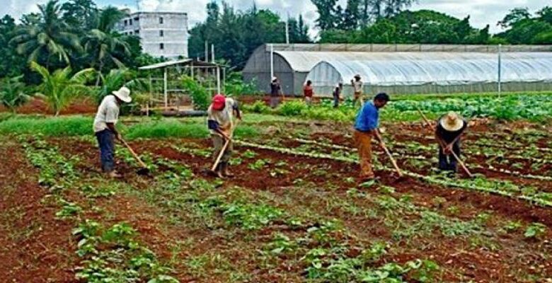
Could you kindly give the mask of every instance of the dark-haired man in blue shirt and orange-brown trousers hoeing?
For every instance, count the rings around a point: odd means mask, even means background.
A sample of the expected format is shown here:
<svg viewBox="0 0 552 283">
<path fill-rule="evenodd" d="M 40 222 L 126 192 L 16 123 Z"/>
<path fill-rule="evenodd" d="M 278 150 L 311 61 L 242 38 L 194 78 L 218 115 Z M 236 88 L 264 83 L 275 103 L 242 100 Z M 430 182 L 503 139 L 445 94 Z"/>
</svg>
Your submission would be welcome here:
<svg viewBox="0 0 552 283">
<path fill-rule="evenodd" d="M 360 159 L 360 180 L 366 182 L 373 180 L 375 175 L 372 169 L 372 138 L 375 137 L 383 143 L 378 132 L 379 109 L 389 102 L 386 93 L 379 93 L 374 97 L 373 103 L 366 103 L 360 108 L 355 122 L 355 144 Z"/>
</svg>

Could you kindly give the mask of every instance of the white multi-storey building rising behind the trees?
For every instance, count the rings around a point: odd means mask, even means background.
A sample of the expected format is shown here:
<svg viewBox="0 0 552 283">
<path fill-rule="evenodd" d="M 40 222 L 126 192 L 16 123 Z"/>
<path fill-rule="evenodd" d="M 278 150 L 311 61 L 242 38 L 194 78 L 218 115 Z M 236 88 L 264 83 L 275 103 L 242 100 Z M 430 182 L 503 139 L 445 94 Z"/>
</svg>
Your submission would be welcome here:
<svg viewBox="0 0 552 283">
<path fill-rule="evenodd" d="M 137 12 L 117 23 L 125 35 L 140 37 L 145 53 L 154 57 L 188 57 L 188 14 L 177 12 Z"/>
</svg>

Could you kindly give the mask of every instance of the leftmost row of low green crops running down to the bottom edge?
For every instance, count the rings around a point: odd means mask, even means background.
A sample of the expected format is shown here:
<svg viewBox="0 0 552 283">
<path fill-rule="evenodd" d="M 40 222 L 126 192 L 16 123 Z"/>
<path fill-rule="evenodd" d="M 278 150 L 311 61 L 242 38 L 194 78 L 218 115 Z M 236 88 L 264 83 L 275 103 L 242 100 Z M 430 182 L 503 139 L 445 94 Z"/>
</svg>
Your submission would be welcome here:
<svg viewBox="0 0 552 283">
<path fill-rule="evenodd" d="M 75 267 L 76 279 L 83 282 L 138 282 L 146 279 L 149 283 L 178 282 L 166 275 L 169 270 L 163 267 L 156 255 L 137 241 L 138 233 L 129 224 L 122 222 L 104 227 L 98 221 L 87 219 L 90 213 L 86 204 L 66 200 L 67 190 L 79 187 L 81 195 L 88 202 L 115 194 L 113 184 L 86 184 L 74 169 L 78 158 L 67 159 L 59 154 L 59 149 L 37 137 L 28 141 L 21 138 L 23 148 L 30 161 L 40 170 L 40 185 L 46 187 L 57 199 L 60 221 L 74 221 L 73 236 L 76 254 L 81 265 Z M 97 210 L 97 209 L 96 209 Z"/>
</svg>

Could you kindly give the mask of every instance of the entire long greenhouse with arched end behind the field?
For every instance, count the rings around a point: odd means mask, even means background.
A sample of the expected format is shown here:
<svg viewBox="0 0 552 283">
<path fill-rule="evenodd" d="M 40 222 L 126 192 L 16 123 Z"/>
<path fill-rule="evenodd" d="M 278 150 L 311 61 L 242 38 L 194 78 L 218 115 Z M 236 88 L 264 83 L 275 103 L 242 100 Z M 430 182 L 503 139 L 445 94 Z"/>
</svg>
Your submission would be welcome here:
<svg viewBox="0 0 552 283">
<path fill-rule="evenodd" d="M 263 45 L 243 76 L 270 91 L 277 76 L 287 95 L 301 95 L 307 80 L 316 96 L 330 96 L 338 83 L 350 95 L 360 74 L 365 93 L 472 93 L 552 90 L 550 45 Z M 273 50 L 273 52 L 271 52 Z M 272 54 L 273 71 L 270 57 Z M 500 66 L 500 67 L 499 67 Z M 500 78 L 498 69 L 500 68 Z"/>
</svg>

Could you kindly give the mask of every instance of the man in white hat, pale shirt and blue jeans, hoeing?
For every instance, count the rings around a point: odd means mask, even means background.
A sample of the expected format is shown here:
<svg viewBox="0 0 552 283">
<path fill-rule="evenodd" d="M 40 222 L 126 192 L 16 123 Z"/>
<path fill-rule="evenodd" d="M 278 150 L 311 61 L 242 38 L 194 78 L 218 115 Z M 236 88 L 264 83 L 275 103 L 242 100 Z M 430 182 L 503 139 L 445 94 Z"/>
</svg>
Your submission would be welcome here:
<svg viewBox="0 0 552 283">
<path fill-rule="evenodd" d="M 123 86 L 118 91 L 113 91 L 113 93 L 103 98 L 94 119 L 93 129 L 100 146 L 102 171 L 108 173 L 110 178 L 121 177 L 115 171 L 115 139 L 121 140 L 121 135 L 117 132 L 115 125 L 117 125 L 119 119 L 120 105 L 131 101 L 130 90 Z"/>
</svg>

